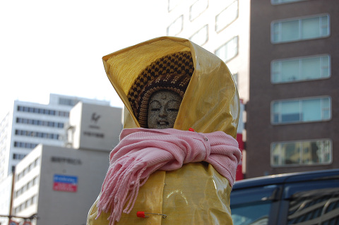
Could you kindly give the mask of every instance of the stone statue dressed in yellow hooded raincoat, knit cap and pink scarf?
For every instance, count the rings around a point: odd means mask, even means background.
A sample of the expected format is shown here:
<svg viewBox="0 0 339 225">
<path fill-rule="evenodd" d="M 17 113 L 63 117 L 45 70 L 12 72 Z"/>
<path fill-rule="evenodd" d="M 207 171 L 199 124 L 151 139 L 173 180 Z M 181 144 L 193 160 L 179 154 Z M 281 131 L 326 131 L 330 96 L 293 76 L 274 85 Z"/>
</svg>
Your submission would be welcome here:
<svg viewBox="0 0 339 225">
<path fill-rule="evenodd" d="M 124 130 L 87 224 L 232 224 L 239 96 L 225 63 L 177 37 L 103 61 Z"/>
</svg>

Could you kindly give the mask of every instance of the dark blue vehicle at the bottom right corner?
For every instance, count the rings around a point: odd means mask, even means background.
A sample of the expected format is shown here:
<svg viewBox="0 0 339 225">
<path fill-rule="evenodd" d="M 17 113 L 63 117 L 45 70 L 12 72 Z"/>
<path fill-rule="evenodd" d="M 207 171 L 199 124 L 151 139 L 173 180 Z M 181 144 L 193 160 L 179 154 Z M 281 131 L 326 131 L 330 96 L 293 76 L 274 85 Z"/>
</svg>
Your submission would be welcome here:
<svg viewBox="0 0 339 225">
<path fill-rule="evenodd" d="M 230 200 L 234 225 L 336 225 L 339 169 L 237 181 Z"/>
</svg>

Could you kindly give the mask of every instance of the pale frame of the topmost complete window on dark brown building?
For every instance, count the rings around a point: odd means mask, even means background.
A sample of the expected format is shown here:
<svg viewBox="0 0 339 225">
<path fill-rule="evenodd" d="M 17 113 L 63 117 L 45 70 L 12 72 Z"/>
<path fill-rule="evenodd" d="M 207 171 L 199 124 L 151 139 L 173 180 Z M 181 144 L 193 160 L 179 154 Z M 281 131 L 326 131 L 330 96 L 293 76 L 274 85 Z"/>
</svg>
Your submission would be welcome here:
<svg viewBox="0 0 339 225">
<path fill-rule="evenodd" d="M 311 18 L 322 18 L 324 16 L 327 16 L 328 18 L 328 35 L 323 35 L 323 36 L 319 36 L 319 37 L 311 37 L 311 38 L 303 38 L 302 37 L 302 28 L 301 28 L 301 23 L 302 20 L 307 20 L 307 19 L 311 19 Z M 274 32 L 274 25 L 278 24 L 280 29 L 281 29 L 281 24 L 285 23 L 285 22 L 292 22 L 292 21 L 298 21 L 298 39 L 292 39 L 292 40 L 281 40 L 281 35 L 278 35 L 278 40 L 275 41 L 274 40 L 274 36 L 275 36 L 275 32 Z M 321 24 L 319 23 L 319 30 L 321 29 Z M 280 34 L 282 33 L 282 31 L 279 31 Z M 301 41 L 306 41 L 309 39 L 322 39 L 322 38 L 326 38 L 329 37 L 331 35 L 331 17 L 328 13 L 322 13 L 322 14 L 316 14 L 316 15 L 311 15 L 311 16 L 302 16 L 302 17 L 296 17 L 296 18 L 286 18 L 286 19 L 282 19 L 282 20 L 273 20 L 270 23 L 270 42 L 272 44 L 283 44 L 283 43 L 290 43 L 290 42 L 301 42 Z"/>
</svg>

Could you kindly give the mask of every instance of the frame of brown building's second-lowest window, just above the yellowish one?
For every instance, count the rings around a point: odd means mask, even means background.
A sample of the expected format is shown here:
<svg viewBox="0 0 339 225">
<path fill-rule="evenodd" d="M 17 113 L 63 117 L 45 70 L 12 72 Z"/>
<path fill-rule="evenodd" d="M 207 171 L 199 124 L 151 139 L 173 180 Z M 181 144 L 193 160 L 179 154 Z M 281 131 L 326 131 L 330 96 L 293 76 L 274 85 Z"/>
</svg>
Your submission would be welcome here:
<svg viewBox="0 0 339 225">
<path fill-rule="evenodd" d="M 311 99 L 325 99 L 328 98 L 329 99 L 329 116 L 326 119 L 320 119 L 320 120 L 316 120 L 316 121 L 291 121 L 291 122 L 281 122 L 281 118 L 278 119 L 279 122 L 275 123 L 274 122 L 274 117 L 275 117 L 275 113 L 273 111 L 273 104 L 275 102 L 292 102 L 292 101 L 298 101 L 299 100 L 299 104 L 301 101 L 307 101 L 307 100 L 311 100 Z M 322 104 L 322 102 L 321 102 Z M 323 108 L 321 108 L 321 113 L 323 111 Z M 302 114 L 302 107 L 299 106 L 299 115 Z M 281 114 L 281 110 L 279 111 L 278 114 L 279 117 L 282 116 Z M 301 97 L 301 98 L 294 98 L 294 99 L 277 99 L 277 100 L 273 100 L 272 102 L 270 102 L 270 124 L 273 126 L 281 126 L 281 125 L 285 125 L 285 124 L 295 124 L 295 123 L 319 123 L 319 122 L 325 122 L 325 121 L 331 121 L 332 119 L 332 98 L 329 95 L 323 95 L 323 96 L 315 96 L 315 97 Z"/>
</svg>

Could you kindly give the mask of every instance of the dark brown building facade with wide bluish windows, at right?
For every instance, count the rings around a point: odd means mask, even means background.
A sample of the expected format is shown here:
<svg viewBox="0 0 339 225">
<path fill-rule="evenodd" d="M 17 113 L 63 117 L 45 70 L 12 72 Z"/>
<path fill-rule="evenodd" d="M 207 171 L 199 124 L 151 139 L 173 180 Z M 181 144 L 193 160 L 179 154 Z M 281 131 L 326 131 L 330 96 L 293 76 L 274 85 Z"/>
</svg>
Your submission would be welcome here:
<svg viewBox="0 0 339 225">
<path fill-rule="evenodd" d="M 246 177 L 338 168 L 338 1 L 251 1 L 250 46 Z"/>
</svg>

